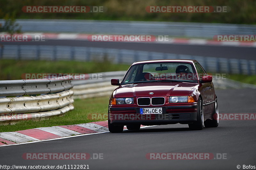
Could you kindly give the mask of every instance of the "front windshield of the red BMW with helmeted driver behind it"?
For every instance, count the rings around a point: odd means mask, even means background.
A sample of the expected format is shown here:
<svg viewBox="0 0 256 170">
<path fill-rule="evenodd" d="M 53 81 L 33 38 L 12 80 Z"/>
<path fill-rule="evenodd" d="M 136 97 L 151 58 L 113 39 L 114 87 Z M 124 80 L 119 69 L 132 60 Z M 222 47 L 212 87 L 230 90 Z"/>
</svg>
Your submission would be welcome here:
<svg viewBox="0 0 256 170">
<path fill-rule="evenodd" d="M 154 81 L 197 83 L 197 77 L 190 63 L 135 64 L 126 73 L 122 85 Z"/>
</svg>

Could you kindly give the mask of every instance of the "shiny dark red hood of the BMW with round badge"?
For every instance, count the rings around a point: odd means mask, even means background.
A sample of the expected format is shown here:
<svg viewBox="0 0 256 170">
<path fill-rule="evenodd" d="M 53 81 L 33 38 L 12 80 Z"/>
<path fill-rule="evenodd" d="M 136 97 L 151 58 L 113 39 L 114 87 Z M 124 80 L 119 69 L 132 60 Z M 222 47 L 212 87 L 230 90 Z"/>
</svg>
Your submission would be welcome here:
<svg viewBox="0 0 256 170">
<path fill-rule="evenodd" d="M 148 82 L 122 85 L 114 91 L 115 98 L 139 96 L 187 96 L 196 83 Z M 153 92 L 154 94 L 149 94 Z"/>
</svg>

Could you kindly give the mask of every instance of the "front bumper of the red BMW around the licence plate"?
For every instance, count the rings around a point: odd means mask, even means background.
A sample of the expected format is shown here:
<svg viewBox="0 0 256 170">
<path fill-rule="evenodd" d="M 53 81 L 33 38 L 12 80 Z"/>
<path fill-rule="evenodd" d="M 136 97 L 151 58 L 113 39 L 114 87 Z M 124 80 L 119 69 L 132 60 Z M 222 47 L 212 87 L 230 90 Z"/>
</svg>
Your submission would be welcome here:
<svg viewBox="0 0 256 170">
<path fill-rule="evenodd" d="M 175 123 L 188 124 L 197 120 L 196 104 L 158 107 L 162 107 L 162 114 L 140 114 L 140 108 L 150 107 L 109 107 L 108 119 L 114 125 L 161 125 Z"/>
</svg>

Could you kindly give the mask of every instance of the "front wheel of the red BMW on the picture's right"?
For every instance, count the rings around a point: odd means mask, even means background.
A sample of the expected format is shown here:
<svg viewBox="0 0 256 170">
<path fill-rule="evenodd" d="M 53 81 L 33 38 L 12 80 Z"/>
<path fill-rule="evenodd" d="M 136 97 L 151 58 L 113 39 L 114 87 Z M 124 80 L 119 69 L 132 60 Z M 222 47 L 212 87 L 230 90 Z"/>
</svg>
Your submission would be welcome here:
<svg viewBox="0 0 256 170">
<path fill-rule="evenodd" d="M 204 128 L 204 109 L 203 109 L 203 102 L 201 98 L 198 99 L 198 103 L 197 103 L 197 121 L 194 123 L 188 124 L 188 127 L 191 130 L 202 130 Z"/>
</svg>

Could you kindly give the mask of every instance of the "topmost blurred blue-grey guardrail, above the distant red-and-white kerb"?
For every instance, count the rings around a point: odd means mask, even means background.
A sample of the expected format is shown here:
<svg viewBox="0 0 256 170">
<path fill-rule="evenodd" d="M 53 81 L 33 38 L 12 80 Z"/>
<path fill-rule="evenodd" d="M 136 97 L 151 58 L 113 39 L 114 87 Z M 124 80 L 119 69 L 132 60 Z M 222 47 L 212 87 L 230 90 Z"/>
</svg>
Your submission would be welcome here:
<svg viewBox="0 0 256 170">
<path fill-rule="evenodd" d="M 0 23 L 4 24 L 1 19 Z M 103 21 L 75 19 L 17 19 L 23 32 L 68 32 L 101 34 L 149 34 L 179 37 L 212 38 L 214 35 L 256 34 L 255 25 L 153 22 L 153 21 Z"/>
</svg>

